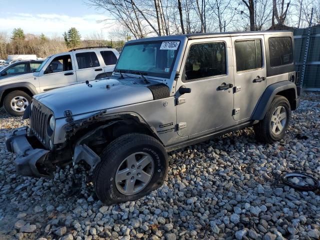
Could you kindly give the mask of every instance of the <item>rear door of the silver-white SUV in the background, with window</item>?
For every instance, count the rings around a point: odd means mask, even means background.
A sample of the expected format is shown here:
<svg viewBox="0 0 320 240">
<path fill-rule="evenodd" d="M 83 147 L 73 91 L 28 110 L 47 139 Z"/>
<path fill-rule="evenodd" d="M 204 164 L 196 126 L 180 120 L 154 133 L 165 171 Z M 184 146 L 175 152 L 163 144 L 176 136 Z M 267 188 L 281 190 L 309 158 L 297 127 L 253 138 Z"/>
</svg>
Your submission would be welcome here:
<svg viewBox="0 0 320 240">
<path fill-rule="evenodd" d="M 76 59 L 76 78 L 78 82 L 91 81 L 104 73 L 103 65 L 99 62 L 95 51 L 73 52 Z"/>
</svg>

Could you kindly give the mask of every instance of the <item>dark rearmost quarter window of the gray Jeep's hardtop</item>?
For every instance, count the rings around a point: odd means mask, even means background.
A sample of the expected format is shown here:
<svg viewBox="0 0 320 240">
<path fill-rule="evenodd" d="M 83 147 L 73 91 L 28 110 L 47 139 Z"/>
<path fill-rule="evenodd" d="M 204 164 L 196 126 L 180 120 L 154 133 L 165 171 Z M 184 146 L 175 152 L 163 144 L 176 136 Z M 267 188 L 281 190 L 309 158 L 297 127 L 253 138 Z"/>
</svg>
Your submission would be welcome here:
<svg viewBox="0 0 320 240">
<path fill-rule="evenodd" d="M 293 62 L 291 37 L 270 37 L 268 42 L 271 66 L 286 65 Z"/>
</svg>

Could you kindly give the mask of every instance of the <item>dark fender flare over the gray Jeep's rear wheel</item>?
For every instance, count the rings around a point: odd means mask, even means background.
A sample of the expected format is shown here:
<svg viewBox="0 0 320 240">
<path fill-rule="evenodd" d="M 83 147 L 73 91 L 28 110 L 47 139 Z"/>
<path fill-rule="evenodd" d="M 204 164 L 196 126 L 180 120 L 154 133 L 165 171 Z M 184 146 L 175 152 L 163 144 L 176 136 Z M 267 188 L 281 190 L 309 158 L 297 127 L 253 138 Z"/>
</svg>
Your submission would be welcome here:
<svg viewBox="0 0 320 240">
<path fill-rule="evenodd" d="M 255 106 L 255 109 L 252 114 L 252 120 L 262 120 L 265 116 L 265 113 L 269 105 L 271 104 L 273 97 L 277 95 L 277 93 L 288 89 L 292 89 L 292 92 L 294 90 L 293 99 L 295 102 L 290 102 L 291 108 L 292 110 L 297 108 L 299 104 L 299 97 L 297 96 L 296 85 L 291 81 L 279 81 L 270 84 L 265 88 L 261 98 Z"/>
</svg>

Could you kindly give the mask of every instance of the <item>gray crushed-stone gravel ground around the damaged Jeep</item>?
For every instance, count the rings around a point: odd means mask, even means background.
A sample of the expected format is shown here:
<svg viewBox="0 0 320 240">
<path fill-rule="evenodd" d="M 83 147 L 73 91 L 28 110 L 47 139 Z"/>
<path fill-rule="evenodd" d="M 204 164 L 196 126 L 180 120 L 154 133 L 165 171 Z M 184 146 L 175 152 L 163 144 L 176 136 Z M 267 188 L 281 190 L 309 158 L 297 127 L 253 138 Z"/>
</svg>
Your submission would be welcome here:
<svg viewBox="0 0 320 240">
<path fill-rule="evenodd" d="M 17 175 L 4 135 L 27 121 L 0 115 L 0 239 L 319 239 L 320 195 L 280 178 L 320 177 L 319 94 L 304 95 L 284 140 L 259 144 L 249 127 L 170 152 L 162 187 L 111 206 L 92 183 L 71 187 L 70 167 L 54 179 Z"/>
</svg>

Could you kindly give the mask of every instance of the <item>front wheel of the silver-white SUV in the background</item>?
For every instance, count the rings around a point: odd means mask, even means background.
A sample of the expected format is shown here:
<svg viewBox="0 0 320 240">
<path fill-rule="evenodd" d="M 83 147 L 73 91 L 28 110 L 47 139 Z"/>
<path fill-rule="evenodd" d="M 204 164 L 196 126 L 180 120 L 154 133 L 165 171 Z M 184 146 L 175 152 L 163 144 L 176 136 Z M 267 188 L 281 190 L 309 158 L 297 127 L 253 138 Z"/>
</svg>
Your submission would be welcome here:
<svg viewBox="0 0 320 240">
<path fill-rule="evenodd" d="M 29 96 L 24 91 L 11 91 L 3 99 L 3 107 L 7 113 L 12 116 L 22 116 L 25 108 L 31 101 Z"/>
</svg>

